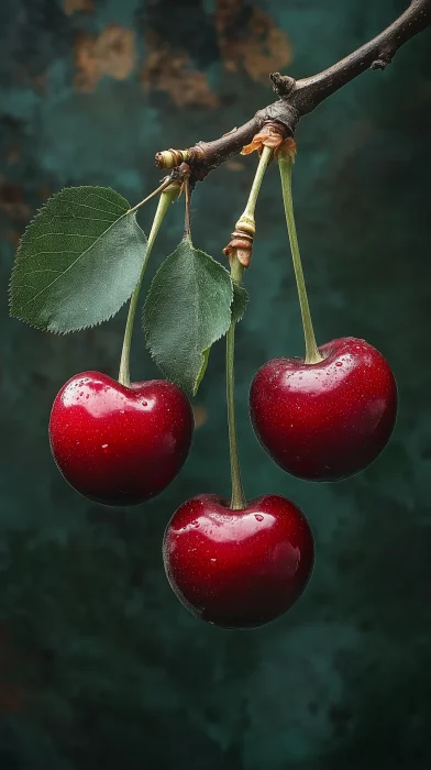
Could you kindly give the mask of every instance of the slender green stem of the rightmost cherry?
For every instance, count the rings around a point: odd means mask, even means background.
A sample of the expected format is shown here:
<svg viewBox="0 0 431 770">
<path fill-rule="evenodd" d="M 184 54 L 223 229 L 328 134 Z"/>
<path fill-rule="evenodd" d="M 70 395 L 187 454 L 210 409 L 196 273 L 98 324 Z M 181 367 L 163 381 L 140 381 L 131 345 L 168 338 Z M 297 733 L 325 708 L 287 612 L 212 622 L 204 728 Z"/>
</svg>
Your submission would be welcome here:
<svg viewBox="0 0 431 770">
<path fill-rule="evenodd" d="M 306 364 L 317 364 L 322 361 L 316 343 L 314 330 L 311 321 L 310 306 L 308 304 L 306 280 L 303 277 L 301 255 L 299 253 L 298 238 L 294 216 L 294 200 L 291 197 L 291 167 L 294 158 L 289 156 L 278 158 L 281 177 L 283 200 L 285 204 L 287 230 L 289 233 L 290 250 L 294 261 L 295 277 L 298 287 L 299 305 L 301 308 L 303 337 L 306 340 Z"/>
</svg>

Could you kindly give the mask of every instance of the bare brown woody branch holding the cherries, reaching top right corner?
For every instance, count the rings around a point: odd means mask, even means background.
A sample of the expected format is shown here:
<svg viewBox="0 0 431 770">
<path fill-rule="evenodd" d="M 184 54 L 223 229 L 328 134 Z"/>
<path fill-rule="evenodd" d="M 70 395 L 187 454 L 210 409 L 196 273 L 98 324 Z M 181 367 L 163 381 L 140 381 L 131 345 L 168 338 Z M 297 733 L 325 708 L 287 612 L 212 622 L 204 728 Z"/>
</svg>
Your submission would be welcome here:
<svg viewBox="0 0 431 770">
<path fill-rule="evenodd" d="M 302 116 L 314 110 L 324 99 L 366 69 L 385 69 L 401 45 L 430 24 L 431 0 L 411 0 L 407 10 L 377 37 L 322 73 L 297 81 L 273 73 L 269 77 L 279 97 L 277 101 L 256 112 L 244 125 L 233 129 L 213 142 L 198 142 L 189 150 L 167 150 L 157 153 L 157 167 L 176 168 L 187 163 L 192 173 L 194 184 L 233 155 L 237 155 L 267 122 L 280 124 L 285 135 L 292 135 Z"/>
</svg>

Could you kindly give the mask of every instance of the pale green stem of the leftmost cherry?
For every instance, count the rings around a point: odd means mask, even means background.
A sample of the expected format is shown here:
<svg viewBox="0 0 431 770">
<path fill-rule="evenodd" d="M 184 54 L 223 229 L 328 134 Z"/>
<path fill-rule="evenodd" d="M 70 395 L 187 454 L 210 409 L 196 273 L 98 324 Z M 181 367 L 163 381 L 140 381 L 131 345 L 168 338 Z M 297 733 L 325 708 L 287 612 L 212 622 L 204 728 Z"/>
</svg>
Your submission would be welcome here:
<svg viewBox="0 0 431 770">
<path fill-rule="evenodd" d="M 154 216 L 152 229 L 150 231 L 148 235 L 148 241 L 146 244 L 146 252 L 144 256 L 144 262 L 142 264 L 141 268 L 141 274 L 137 280 L 137 284 L 133 290 L 133 294 L 130 299 L 130 306 L 129 306 L 129 315 L 128 315 L 128 320 L 125 322 L 125 331 L 124 331 L 124 341 L 123 341 L 123 349 L 121 351 L 121 361 L 120 361 L 120 372 L 119 372 L 119 383 L 121 385 L 124 385 L 125 387 L 130 387 L 130 349 L 132 344 L 132 333 L 133 333 L 133 326 L 134 326 L 134 319 L 136 315 L 136 308 L 137 308 L 137 300 L 141 292 L 141 286 L 142 286 L 142 280 L 144 278 L 145 270 L 148 264 L 148 258 L 150 254 L 152 252 L 152 249 L 154 246 L 154 242 L 156 240 L 158 230 L 161 229 L 161 224 L 164 220 L 164 217 L 170 206 L 170 204 L 178 197 L 178 191 L 179 191 L 179 185 L 174 184 L 169 182 L 169 189 L 167 189 L 167 186 L 165 190 L 162 193 L 159 199 L 158 199 L 158 206 L 156 209 L 156 213 Z M 136 207 L 135 207 L 136 208 Z M 132 213 L 134 209 L 131 209 L 129 213 Z"/>
</svg>

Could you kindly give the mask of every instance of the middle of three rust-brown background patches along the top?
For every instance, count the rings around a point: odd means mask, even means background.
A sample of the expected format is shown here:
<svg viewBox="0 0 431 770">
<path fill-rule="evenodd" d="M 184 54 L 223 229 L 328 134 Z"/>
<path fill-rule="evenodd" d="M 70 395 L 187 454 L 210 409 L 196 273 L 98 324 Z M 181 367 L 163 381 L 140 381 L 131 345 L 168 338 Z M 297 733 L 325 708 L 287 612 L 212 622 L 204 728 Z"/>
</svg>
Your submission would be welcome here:
<svg viewBox="0 0 431 770">
<path fill-rule="evenodd" d="M 141 70 L 146 90 L 165 91 L 177 107 L 216 109 L 219 97 L 205 73 L 194 69 L 186 51 L 173 50 L 153 31 L 145 37 L 148 53 Z"/>
</svg>

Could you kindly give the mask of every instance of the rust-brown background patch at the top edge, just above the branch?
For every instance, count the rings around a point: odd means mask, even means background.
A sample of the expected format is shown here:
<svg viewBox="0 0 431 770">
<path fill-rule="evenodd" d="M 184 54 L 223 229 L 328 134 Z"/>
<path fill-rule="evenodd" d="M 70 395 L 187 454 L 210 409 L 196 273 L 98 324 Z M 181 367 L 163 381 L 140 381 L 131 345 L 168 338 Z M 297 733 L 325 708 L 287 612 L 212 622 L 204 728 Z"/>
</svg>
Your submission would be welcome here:
<svg viewBox="0 0 431 770">
<path fill-rule="evenodd" d="M 287 34 L 276 28 L 268 13 L 245 0 L 217 0 L 216 30 L 229 72 L 243 68 L 253 80 L 268 82 L 269 73 L 292 61 Z"/>
</svg>

